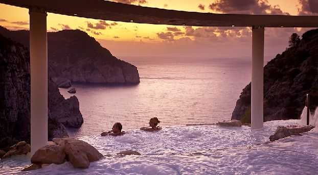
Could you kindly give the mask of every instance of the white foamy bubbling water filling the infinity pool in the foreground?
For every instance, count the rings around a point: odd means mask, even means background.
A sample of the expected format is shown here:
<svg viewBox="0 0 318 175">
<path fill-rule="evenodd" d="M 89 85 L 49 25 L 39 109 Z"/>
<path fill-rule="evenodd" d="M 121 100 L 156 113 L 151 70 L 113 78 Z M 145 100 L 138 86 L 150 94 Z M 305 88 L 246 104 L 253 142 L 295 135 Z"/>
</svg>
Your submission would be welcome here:
<svg viewBox="0 0 318 175">
<path fill-rule="evenodd" d="M 269 141 L 277 126 L 300 120 L 264 123 L 264 129 L 211 126 L 163 128 L 158 132 L 127 130 L 124 136 L 86 136 L 79 139 L 106 155 L 76 169 L 69 162 L 20 172 L 30 159 L 0 161 L 0 174 L 315 174 L 318 172 L 318 133 Z M 315 129 L 314 129 L 315 130 Z M 141 156 L 117 153 L 132 149 Z"/>
</svg>

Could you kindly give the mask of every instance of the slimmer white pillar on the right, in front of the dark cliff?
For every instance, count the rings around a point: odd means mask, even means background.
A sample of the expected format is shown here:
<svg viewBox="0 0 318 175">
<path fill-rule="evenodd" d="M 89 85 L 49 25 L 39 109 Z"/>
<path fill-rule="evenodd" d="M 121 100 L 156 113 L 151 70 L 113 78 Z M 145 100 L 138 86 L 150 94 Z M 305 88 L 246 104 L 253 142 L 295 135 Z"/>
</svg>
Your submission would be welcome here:
<svg viewBox="0 0 318 175">
<path fill-rule="evenodd" d="M 263 128 L 264 27 L 252 28 L 251 128 Z"/>
</svg>

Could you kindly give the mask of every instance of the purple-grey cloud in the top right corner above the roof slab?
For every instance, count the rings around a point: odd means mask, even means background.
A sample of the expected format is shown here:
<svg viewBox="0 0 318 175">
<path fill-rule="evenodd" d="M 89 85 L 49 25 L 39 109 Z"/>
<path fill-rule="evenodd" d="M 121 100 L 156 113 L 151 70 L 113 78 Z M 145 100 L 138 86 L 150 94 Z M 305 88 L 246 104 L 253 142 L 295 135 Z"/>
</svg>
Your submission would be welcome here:
<svg viewBox="0 0 318 175">
<path fill-rule="evenodd" d="M 316 0 L 299 0 L 301 8 L 298 8 L 299 15 L 317 15 L 318 1 Z"/>
</svg>

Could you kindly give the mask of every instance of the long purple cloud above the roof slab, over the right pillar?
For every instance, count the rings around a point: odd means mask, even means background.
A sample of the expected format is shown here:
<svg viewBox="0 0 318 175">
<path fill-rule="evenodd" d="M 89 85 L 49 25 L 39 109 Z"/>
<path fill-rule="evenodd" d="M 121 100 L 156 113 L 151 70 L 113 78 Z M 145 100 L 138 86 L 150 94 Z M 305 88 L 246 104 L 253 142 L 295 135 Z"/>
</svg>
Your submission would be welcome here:
<svg viewBox="0 0 318 175">
<path fill-rule="evenodd" d="M 269 5 L 266 0 L 216 0 L 209 5 L 209 9 L 222 13 L 289 15 L 279 6 Z"/>
</svg>

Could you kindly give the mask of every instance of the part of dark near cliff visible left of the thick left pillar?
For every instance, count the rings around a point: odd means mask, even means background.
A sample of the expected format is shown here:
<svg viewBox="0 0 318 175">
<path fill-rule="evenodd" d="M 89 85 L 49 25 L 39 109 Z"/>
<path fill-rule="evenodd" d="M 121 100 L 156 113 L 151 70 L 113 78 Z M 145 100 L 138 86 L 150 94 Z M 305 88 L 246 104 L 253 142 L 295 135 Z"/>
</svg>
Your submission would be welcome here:
<svg viewBox="0 0 318 175">
<path fill-rule="evenodd" d="M 0 35 L 0 138 L 30 138 L 30 56 Z"/>
</svg>

